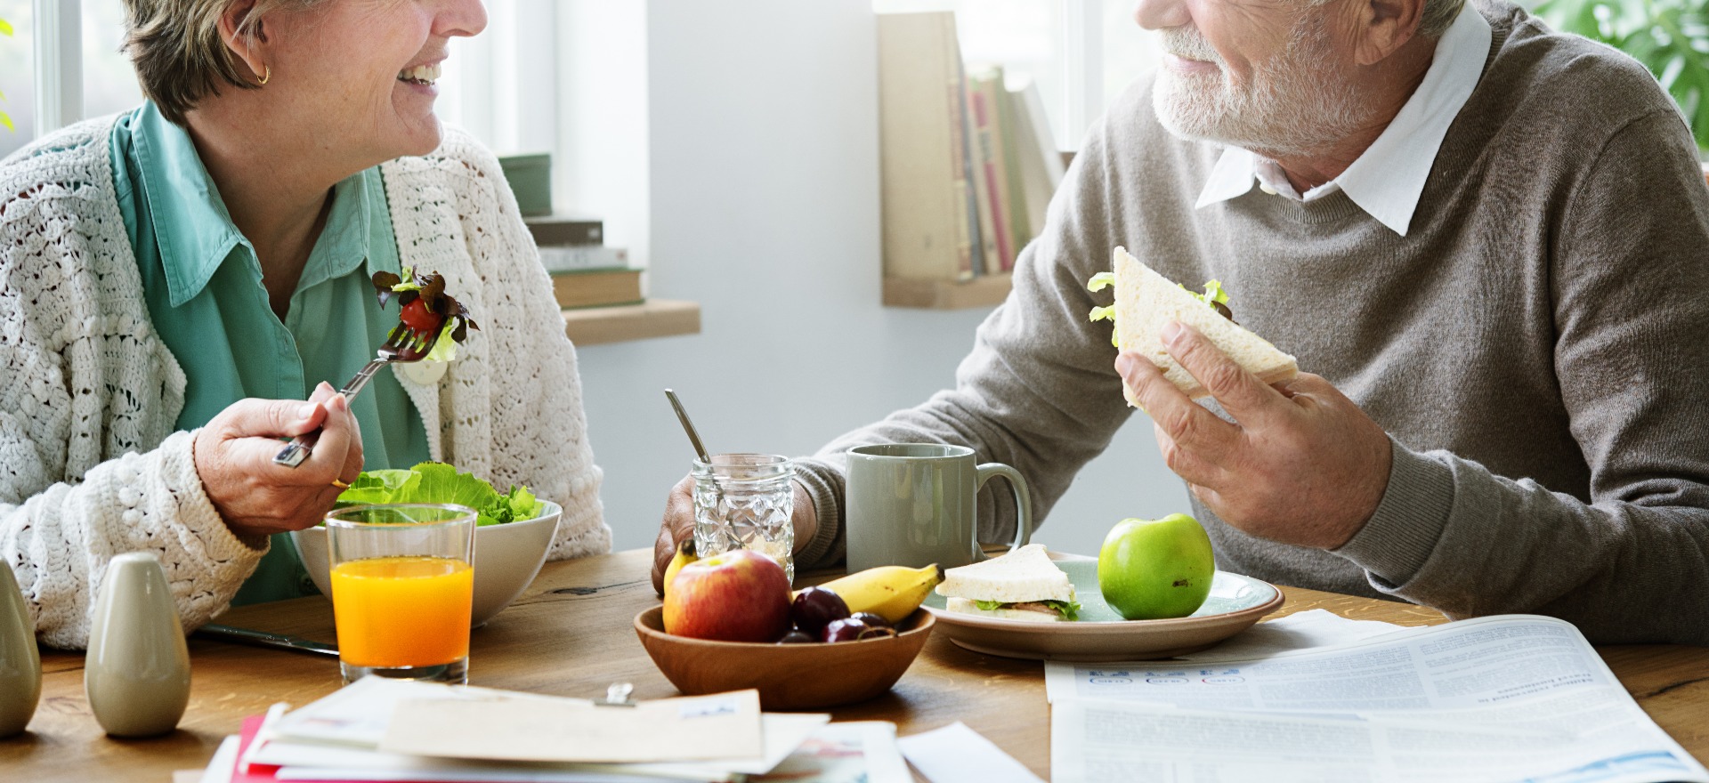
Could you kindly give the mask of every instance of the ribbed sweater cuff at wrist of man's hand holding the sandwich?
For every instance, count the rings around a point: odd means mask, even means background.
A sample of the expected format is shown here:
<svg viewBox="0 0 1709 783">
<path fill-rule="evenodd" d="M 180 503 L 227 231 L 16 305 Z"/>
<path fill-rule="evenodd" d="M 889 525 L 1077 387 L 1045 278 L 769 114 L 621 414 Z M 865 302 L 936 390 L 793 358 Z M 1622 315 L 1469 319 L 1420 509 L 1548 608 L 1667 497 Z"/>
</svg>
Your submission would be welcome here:
<svg viewBox="0 0 1709 783">
<path fill-rule="evenodd" d="M 1393 438 L 1393 462 L 1383 501 L 1335 554 L 1389 585 L 1405 585 L 1436 550 L 1454 508 L 1454 475 Z"/>
</svg>

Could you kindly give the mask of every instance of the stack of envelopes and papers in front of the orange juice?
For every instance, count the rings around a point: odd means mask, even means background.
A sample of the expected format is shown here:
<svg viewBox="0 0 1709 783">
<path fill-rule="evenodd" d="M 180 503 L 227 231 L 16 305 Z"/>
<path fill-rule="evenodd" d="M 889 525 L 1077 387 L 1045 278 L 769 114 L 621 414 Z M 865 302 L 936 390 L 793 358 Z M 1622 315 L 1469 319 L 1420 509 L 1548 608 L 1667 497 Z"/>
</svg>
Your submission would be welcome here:
<svg viewBox="0 0 1709 783">
<path fill-rule="evenodd" d="M 605 704 L 369 677 L 244 721 L 203 783 L 907 781 L 894 723 L 761 713 L 755 691 Z"/>
</svg>

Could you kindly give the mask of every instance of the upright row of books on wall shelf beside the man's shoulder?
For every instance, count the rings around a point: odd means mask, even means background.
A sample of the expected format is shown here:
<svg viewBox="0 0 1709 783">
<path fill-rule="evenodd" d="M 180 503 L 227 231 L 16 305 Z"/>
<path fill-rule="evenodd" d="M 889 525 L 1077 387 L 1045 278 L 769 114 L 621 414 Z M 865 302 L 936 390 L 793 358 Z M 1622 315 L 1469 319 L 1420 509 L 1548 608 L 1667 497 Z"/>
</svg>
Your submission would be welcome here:
<svg viewBox="0 0 1709 783">
<path fill-rule="evenodd" d="M 1037 85 L 969 68 L 954 12 L 878 15 L 884 274 L 1005 274 L 1063 178 Z"/>
</svg>

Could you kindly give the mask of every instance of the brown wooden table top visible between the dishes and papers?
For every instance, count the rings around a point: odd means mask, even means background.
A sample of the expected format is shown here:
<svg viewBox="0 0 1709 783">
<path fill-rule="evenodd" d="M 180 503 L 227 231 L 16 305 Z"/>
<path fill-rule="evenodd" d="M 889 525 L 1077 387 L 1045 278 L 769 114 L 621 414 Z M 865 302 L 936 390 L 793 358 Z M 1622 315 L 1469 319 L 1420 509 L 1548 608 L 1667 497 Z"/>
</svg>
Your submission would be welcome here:
<svg viewBox="0 0 1709 783">
<path fill-rule="evenodd" d="M 658 603 L 649 550 L 550 562 L 511 609 L 473 633 L 470 684 L 552 696 L 602 698 L 632 682 L 636 699 L 675 696 L 653 667 L 631 621 Z M 1285 588 L 1273 617 L 1328 609 L 1401 626 L 1444 622 L 1430 609 L 1316 590 Z M 241 607 L 219 622 L 333 639 L 326 598 Z M 1678 645 L 1598 648 L 1637 703 L 1699 761 L 1709 762 L 1709 650 Z M 167 781 L 200 769 L 248 715 L 275 701 L 308 704 L 340 687 L 332 656 L 190 639 L 191 696 L 178 730 L 159 739 L 109 739 L 84 699 L 82 653 L 43 651 L 43 698 L 24 735 L 0 740 L 0 778 L 29 781 Z M 890 694 L 834 709 L 836 720 L 889 720 L 899 735 L 964 721 L 1049 778 L 1049 704 L 1039 662 L 995 658 L 926 643 Z"/>
</svg>

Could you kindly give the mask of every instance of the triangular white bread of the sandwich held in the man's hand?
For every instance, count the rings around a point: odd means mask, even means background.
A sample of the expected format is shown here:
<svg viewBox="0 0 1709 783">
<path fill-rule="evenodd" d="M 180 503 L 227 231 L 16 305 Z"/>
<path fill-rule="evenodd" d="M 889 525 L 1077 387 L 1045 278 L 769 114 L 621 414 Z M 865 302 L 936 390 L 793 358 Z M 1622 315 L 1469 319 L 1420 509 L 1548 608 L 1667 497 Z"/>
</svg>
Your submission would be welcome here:
<svg viewBox="0 0 1709 783">
<path fill-rule="evenodd" d="M 1169 383 L 1174 383 L 1188 397 L 1210 397 L 1210 392 L 1164 350 L 1159 335 L 1169 321 L 1196 328 L 1224 354 L 1256 374 L 1260 381 L 1278 383 L 1299 374 L 1299 364 L 1292 356 L 1224 318 L 1222 313 L 1208 308 L 1181 286 L 1140 263 L 1126 250 L 1116 248 L 1111 270 L 1116 274 L 1116 344 L 1121 350 L 1143 354 L 1164 371 Z M 1138 400 L 1133 398 L 1133 390 L 1126 385 L 1121 385 L 1121 393 L 1128 398 L 1128 405 L 1140 407 Z"/>
</svg>

